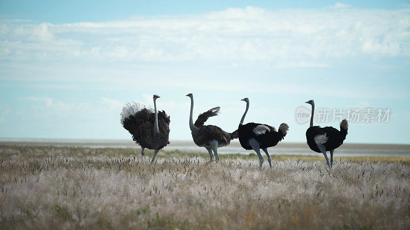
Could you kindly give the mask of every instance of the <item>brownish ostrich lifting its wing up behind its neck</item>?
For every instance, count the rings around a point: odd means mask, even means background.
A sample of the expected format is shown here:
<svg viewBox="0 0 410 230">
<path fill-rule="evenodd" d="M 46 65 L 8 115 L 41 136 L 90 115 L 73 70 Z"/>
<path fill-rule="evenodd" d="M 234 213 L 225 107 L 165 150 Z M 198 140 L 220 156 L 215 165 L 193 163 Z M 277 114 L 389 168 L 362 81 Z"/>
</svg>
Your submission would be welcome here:
<svg viewBox="0 0 410 230">
<path fill-rule="evenodd" d="M 237 130 L 233 133 L 223 131 L 221 128 L 215 125 L 203 125 L 208 118 L 218 115 L 220 107 L 211 108 L 210 110 L 199 114 L 198 119 L 196 119 L 195 124 L 192 121 L 192 112 L 194 109 L 194 96 L 192 94 L 186 95 L 191 98 L 191 111 L 189 115 L 189 127 L 192 132 L 192 139 L 195 144 L 199 147 L 205 147 L 211 157 L 209 162 L 213 162 L 214 151 L 216 161 L 219 161 L 218 148 L 223 146 L 228 146 L 231 140 L 238 138 Z"/>
</svg>

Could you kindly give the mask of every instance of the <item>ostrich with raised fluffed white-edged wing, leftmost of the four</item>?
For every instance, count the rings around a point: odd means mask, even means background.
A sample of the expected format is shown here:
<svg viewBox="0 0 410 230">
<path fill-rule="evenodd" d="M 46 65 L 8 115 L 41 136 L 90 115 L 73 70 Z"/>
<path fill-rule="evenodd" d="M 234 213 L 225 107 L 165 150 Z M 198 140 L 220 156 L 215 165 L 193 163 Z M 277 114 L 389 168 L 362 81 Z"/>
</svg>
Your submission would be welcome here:
<svg viewBox="0 0 410 230">
<path fill-rule="evenodd" d="M 144 159 L 144 149 L 154 149 L 154 163 L 158 151 L 169 144 L 170 117 L 165 111 L 157 111 L 156 100 L 158 95 L 154 95 L 154 110 L 147 109 L 145 105 L 127 103 L 121 112 L 122 127 L 127 129 L 132 140 L 141 146 L 141 160 Z"/>
</svg>

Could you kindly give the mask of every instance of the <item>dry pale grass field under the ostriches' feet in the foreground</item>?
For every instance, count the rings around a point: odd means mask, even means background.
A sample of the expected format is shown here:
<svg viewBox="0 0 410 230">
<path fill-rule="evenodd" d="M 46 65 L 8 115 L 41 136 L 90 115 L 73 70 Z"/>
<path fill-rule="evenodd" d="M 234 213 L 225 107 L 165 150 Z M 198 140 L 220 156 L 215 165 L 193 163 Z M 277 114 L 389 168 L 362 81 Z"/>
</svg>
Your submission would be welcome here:
<svg viewBox="0 0 410 230">
<path fill-rule="evenodd" d="M 409 157 L 136 152 L 0 145 L 0 228 L 410 227 Z"/>
</svg>

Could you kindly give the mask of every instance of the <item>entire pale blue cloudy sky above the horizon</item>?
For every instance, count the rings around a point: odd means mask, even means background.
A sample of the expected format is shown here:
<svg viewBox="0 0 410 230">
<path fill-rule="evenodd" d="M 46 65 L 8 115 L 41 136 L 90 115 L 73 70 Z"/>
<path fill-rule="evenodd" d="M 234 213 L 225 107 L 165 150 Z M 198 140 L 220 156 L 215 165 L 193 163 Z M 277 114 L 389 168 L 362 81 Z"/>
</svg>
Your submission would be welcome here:
<svg viewBox="0 0 410 230">
<path fill-rule="evenodd" d="M 338 128 L 332 111 L 360 111 L 345 142 L 410 144 L 408 1 L 2 1 L 0 138 L 130 139 L 126 102 L 171 116 L 170 140 L 191 140 L 194 117 L 220 106 L 214 124 Z M 388 121 L 366 122 L 366 109 Z M 347 116 L 343 113 L 343 116 Z M 343 117 L 343 118 L 344 118 Z"/>
</svg>

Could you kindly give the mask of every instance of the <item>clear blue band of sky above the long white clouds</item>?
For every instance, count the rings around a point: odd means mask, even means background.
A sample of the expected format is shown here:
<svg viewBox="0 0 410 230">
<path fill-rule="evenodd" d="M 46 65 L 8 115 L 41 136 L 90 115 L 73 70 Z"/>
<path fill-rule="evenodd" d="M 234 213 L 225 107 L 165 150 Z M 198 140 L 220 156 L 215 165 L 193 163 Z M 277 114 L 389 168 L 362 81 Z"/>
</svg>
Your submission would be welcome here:
<svg viewBox="0 0 410 230">
<path fill-rule="evenodd" d="M 264 9 L 318 9 L 335 5 L 332 1 L 1 1 L 4 19 L 28 19 L 37 22 L 72 23 L 81 21 L 124 20 L 135 15 L 186 15 L 247 6 Z M 409 1 L 343 1 L 361 9 L 400 9 Z"/>
</svg>

